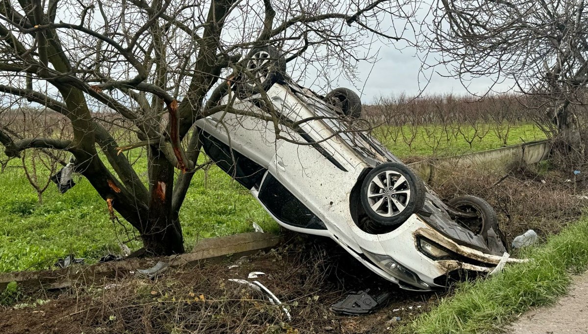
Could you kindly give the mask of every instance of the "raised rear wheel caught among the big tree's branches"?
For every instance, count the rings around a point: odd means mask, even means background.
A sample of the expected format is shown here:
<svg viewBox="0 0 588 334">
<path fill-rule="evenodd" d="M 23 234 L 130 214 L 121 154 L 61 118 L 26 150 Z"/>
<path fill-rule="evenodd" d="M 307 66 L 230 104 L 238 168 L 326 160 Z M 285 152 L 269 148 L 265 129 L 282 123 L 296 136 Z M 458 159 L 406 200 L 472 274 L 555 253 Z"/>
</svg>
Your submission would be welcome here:
<svg viewBox="0 0 588 334">
<path fill-rule="evenodd" d="M 274 83 L 284 79 L 286 59 L 273 46 L 254 48 L 248 58 L 246 68 L 255 76 L 256 82 L 251 82 L 251 78 L 246 75 L 242 75 L 241 79 L 249 89 L 259 90 L 258 85 L 261 85 L 263 90 L 268 90 Z"/>
</svg>

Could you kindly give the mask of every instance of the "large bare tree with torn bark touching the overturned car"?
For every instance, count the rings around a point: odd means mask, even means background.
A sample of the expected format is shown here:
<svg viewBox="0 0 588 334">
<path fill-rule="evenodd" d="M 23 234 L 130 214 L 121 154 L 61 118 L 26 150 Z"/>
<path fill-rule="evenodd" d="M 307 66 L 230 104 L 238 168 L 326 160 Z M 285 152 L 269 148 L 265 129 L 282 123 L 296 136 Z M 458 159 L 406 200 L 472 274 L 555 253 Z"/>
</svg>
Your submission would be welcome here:
<svg viewBox="0 0 588 334">
<path fill-rule="evenodd" d="M 179 210 L 201 148 L 193 124 L 239 113 L 219 102 L 235 73 L 255 77 L 242 55 L 273 45 L 300 76 L 338 65 L 352 77 L 356 62 L 373 60 L 375 38 L 402 39 L 414 10 L 402 0 L 2 0 L 2 102 L 55 110 L 72 135 L 19 139 L 1 124 L 0 142 L 9 157 L 71 152 L 149 252 L 181 253 Z M 283 122 L 265 112 L 250 116 Z M 147 180 L 123 154 L 136 148 L 147 152 Z"/>
</svg>

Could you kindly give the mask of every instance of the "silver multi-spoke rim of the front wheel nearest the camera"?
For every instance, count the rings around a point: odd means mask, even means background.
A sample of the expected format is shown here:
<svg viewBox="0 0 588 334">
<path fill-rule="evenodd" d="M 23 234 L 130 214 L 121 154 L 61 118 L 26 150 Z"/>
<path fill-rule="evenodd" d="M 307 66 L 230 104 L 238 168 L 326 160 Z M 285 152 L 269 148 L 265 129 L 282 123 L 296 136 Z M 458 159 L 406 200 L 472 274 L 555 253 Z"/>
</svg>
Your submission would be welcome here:
<svg viewBox="0 0 588 334">
<path fill-rule="evenodd" d="M 402 174 L 383 171 L 369 183 L 368 203 L 382 217 L 393 217 L 406 209 L 410 201 L 410 185 Z"/>
</svg>

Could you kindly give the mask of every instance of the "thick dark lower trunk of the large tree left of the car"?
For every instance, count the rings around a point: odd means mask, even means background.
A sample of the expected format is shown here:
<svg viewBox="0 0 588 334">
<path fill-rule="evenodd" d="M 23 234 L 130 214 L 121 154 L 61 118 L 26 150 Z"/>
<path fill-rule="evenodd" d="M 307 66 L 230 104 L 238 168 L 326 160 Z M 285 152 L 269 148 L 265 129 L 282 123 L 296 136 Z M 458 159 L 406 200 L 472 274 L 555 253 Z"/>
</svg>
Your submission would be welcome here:
<svg viewBox="0 0 588 334">
<path fill-rule="evenodd" d="M 173 166 L 158 150 L 149 148 L 149 214 L 142 230 L 143 247 L 153 255 L 185 252 L 182 227 L 172 214 Z"/>
</svg>

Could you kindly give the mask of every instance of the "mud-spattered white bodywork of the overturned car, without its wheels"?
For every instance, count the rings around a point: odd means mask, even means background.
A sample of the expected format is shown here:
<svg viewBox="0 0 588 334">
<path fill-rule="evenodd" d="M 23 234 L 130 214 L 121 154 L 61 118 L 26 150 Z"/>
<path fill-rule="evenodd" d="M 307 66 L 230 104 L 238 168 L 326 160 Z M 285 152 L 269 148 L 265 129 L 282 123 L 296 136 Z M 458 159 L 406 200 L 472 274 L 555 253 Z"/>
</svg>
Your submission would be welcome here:
<svg viewBox="0 0 588 334">
<path fill-rule="evenodd" d="M 450 218 L 449 208 L 428 187 L 422 212 L 410 215 L 395 230 L 384 234 L 362 230 L 350 205 L 353 189 L 370 168 L 386 161 L 400 162 L 399 159 L 369 134 L 349 131 L 353 129 L 339 120 L 334 107 L 308 89 L 295 83 L 276 83 L 265 95 L 238 100 L 234 107 L 243 113 L 260 113 L 259 104 L 267 104 L 265 98 L 292 122 L 323 118 L 302 122 L 299 129 L 292 130 L 252 116 L 219 112 L 198 120 L 196 125 L 202 131 L 205 150 L 212 147 L 206 145 L 207 140 L 218 141 L 229 147 L 232 156 L 234 151 L 259 166 L 259 176 L 242 184 L 251 185 L 253 196 L 278 224 L 332 238 L 370 270 L 405 289 L 442 288 L 445 285 L 436 278 L 456 269 L 487 272 L 500 261 L 506 249 L 460 227 Z M 227 99 L 228 96 L 222 103 Z M 276 126 L 280 135 L 295 142 L 276 141 Z M 305 214 L 314 216 L 308 225 L 280 217 L 279 205 L 272 204 L 272 200 L 281 200 L 280 194 L 271 193 L 272 187 L 267 184 L 283 186 L 282 194 L 288 193 L 308 208 Z M 456 258 L 433 259 L 420 249 L 419 238 L 439 245 Z"/>
</svg>

